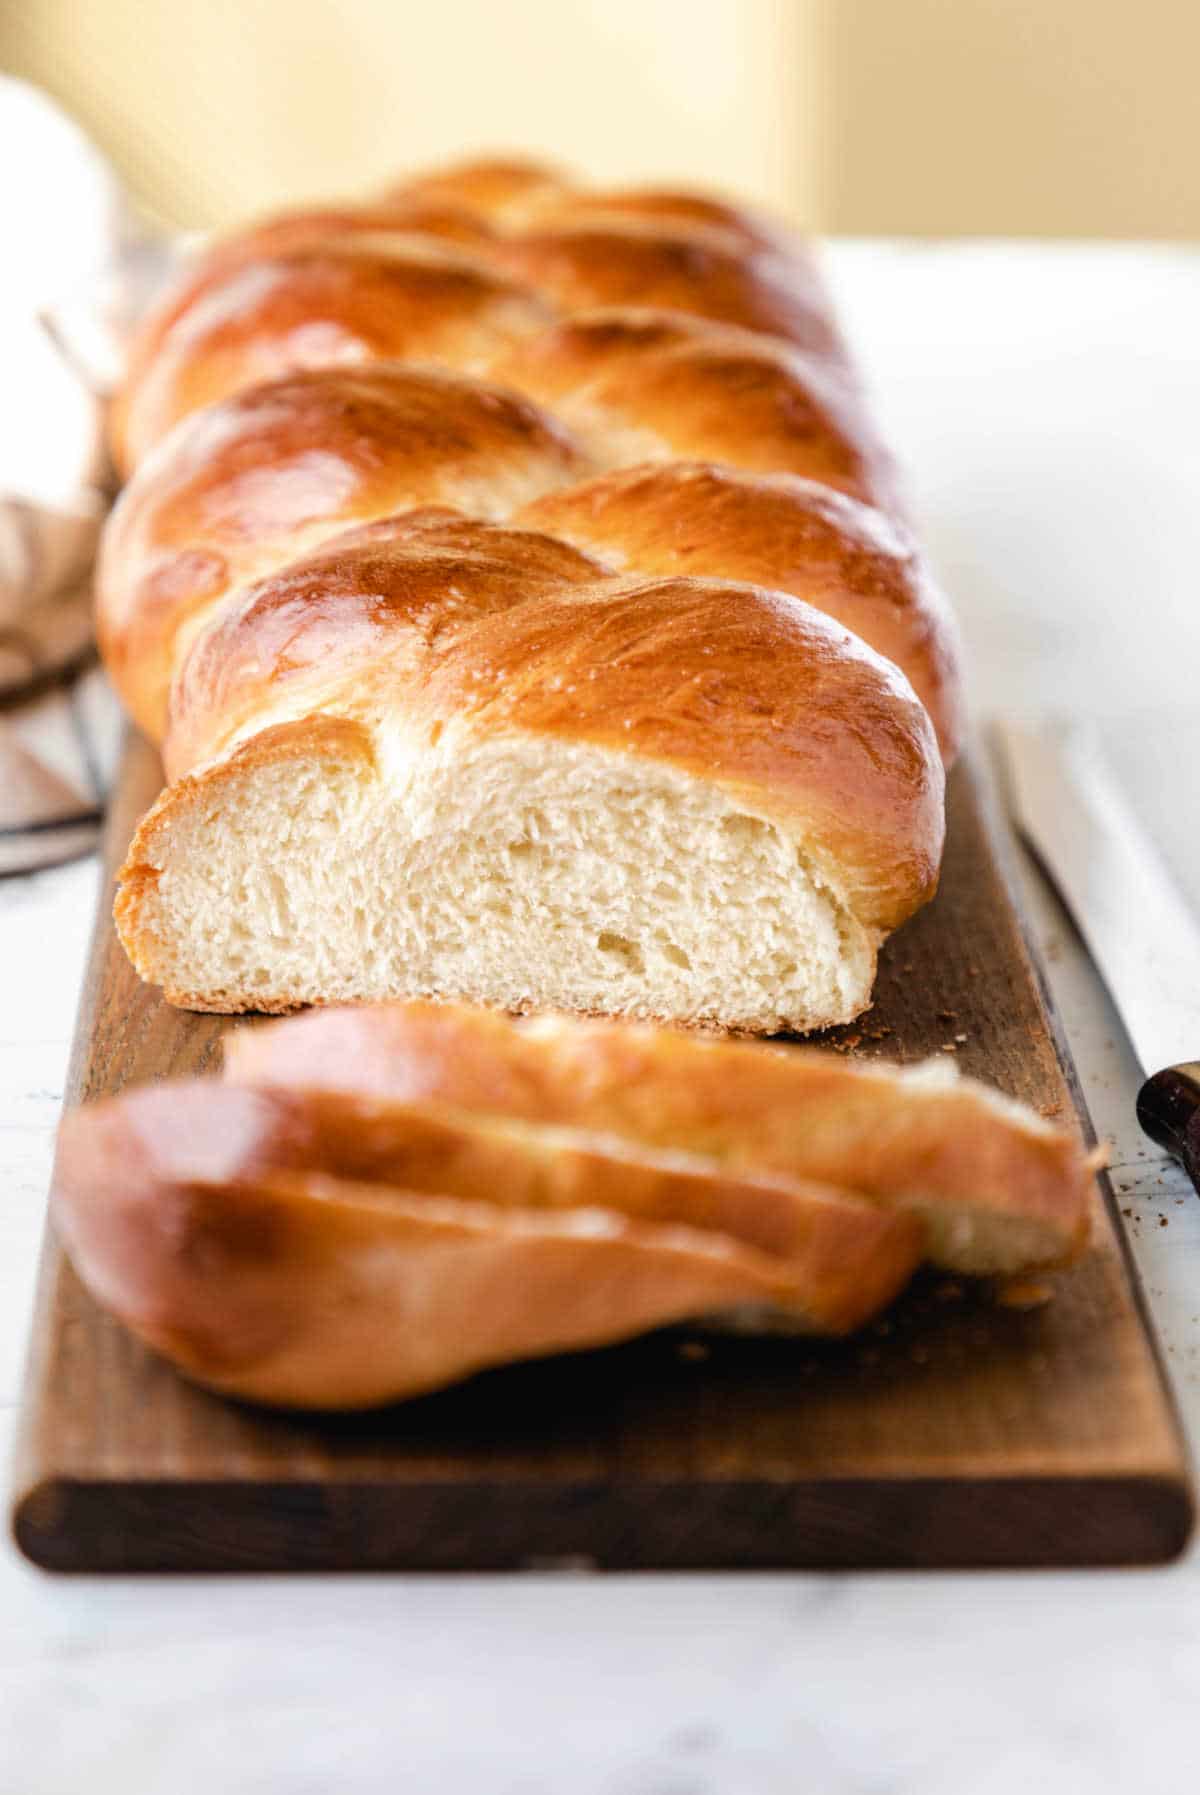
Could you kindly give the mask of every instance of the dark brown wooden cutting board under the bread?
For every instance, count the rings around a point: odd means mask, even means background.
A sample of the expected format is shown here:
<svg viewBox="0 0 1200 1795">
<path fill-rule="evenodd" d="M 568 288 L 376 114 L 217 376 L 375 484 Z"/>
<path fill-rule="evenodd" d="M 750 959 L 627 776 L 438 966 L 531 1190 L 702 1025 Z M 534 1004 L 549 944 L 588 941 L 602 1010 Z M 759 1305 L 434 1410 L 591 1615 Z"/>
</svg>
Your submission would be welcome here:
<svg viewBox="0 0 1200 1795">
<path fill-rule="evenodd" d="M 129 750 L 109 869 L 158 788 Z M 830 1041 L 963 1072 L 1071 1120 L 1078 1088 L 1003 872 L 983 766 L 951 781 L 938 899 Z M 215 1072 L 253 1020 L 169 1009 L 100 906 L 68 1102 Z M 1087 1127 L 1087 1124 L 1083 1122 Z M 1044 1307 L 924 1276 L 848 1343 L 687 1330 L 298 1420 L 190 1388 L 47 1237 L 13 1524 L 75 1571 L 1069 1565 L 1177 1554 L 1186 1454 L 1112 1192 Z"/>
</svg>

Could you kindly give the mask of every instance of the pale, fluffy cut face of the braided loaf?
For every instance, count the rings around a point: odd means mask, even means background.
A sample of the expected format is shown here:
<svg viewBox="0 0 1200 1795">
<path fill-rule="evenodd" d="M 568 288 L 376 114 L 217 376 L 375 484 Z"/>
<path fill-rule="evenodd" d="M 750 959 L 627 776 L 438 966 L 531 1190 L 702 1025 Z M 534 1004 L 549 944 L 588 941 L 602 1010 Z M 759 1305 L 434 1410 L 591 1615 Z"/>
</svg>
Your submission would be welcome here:
<svg viewBox="0 0 1200 1795">
<path fill-rule="evenodd" d="M 179 781 L 122 869 L 143 978 L 212 1011 L 457 998 L 748 1032 L 848 1021 L 877 933 L 778 824 L 683 772 L 547 738 L 332 718 Z"/>
</svg>

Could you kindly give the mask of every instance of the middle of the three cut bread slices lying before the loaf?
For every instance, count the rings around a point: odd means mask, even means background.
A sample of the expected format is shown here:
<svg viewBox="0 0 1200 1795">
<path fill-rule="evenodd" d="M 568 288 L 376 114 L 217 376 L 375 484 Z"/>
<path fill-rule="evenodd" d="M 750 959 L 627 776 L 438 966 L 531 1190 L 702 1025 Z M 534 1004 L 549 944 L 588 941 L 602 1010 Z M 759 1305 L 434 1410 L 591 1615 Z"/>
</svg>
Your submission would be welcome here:
<svg viewBox="0 0 1200 1795">
<path fill-rule="evenodd" d="M 373 1186 L 384 1201 L 404 1194 L 488 1204 L 500 1217 L 601 1212 L 642 1228 L 687 1228 L 714 1246 L 780 1262 L 793 1291 L 787 1307 L 825 1332 L 847 1332 L 890 1301 L 922 1244 L 913 1217 L 823 1186 L 726 1174 L 698 1154 L 208 1079 L 147 1086 L 70 1118 L 56 1183 L 70 1203 L 93 1181 L 118 1176 L 129 1185 L 251 1188 L 289 1174 Z"/>
</svg>

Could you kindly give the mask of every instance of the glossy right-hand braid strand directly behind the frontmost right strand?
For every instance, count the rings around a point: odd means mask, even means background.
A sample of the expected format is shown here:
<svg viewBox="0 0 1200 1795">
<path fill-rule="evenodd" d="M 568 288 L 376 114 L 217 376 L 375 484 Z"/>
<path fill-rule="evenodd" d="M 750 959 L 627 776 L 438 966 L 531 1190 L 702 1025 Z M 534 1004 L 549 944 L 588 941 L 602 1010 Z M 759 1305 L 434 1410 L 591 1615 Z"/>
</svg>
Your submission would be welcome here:
<svg viewBox="0 0 1200 1795">
<path fill-rule="evenodd" d="M 796 476 L 674 461 L 545 494 L 515 522 L 619 571 L 793 592 L 908 675 L 952 763 L 963 729 L 958 630 L 911 537 L 884 513 Z"/>
</svg>

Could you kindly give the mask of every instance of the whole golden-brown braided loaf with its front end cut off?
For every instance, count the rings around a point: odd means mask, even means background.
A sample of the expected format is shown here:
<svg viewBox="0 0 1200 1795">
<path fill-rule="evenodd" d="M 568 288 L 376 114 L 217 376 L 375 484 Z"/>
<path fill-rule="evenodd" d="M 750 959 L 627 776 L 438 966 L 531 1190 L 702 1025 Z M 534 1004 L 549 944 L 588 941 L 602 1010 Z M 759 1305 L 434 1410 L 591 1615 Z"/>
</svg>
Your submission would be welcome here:
<svg viewBox="0 0 1200 1795">
<path fill-rule="evenodd" d="M 847 1021 L 956 637 L 802 246 L 475 165 L 217 244 L 136 341 L 104 657 L 172 1002 Z"/>
</svg>

